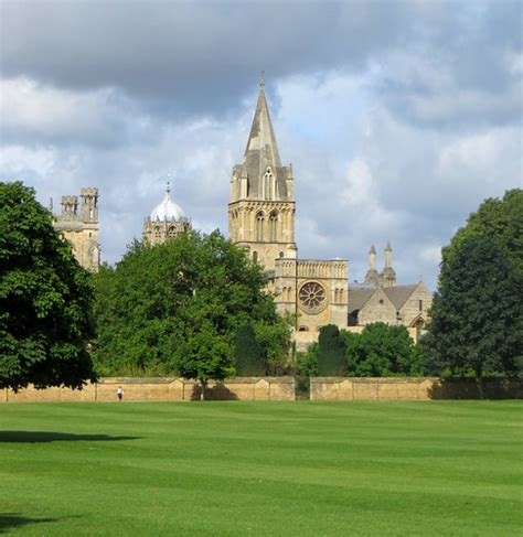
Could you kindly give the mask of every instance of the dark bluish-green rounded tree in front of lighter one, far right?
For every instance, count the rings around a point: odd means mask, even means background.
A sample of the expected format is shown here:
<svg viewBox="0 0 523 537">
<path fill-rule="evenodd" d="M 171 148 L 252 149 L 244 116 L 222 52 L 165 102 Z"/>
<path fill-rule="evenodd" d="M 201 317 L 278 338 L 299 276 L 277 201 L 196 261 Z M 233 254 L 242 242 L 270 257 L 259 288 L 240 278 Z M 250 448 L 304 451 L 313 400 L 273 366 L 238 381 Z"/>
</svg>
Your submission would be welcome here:
<svg viewBox="0 0 523 537">
<path fill-rule="evenodd" d="M 500 241 L 457 234 L 444 251 L 424 341 L 433 373 L 515 374 L 523 348 L 523 279 Z"/>
</svg>

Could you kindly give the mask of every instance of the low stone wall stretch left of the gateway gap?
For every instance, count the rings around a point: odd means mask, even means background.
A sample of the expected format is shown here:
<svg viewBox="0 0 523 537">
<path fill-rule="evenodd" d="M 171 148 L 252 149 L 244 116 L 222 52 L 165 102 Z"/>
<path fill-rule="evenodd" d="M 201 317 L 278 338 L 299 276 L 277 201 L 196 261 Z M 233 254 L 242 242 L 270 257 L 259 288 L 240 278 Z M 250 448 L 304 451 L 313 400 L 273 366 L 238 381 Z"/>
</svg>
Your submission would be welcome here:
<svg viewBox="0 0 523 537">
<path fill-rule="evenodd" d="M 84 389 L 46 388 L 30 386 L 18 394 L 0 391 L 1 402 L 57 402 L 57 401 L 115 401 L 121 386 L 126 401 L 188 401 L 200 399 L 200 385 L 184 378 L 100 378 Z M 292 377 L 231 378 L 224 383 L 210 383 L 207 400 L 274 400 L 295 399 Z"/>
</svg>

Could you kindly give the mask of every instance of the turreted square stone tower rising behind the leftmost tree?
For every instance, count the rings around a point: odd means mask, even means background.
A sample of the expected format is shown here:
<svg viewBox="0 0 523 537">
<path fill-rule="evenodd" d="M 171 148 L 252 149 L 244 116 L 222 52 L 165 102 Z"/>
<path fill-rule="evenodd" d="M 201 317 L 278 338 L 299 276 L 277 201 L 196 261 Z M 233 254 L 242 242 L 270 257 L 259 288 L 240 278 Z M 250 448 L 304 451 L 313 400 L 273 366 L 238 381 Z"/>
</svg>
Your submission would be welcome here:
<svg viewBox="0 0 523 537">
<path fill-rule="evenodd" d="M 98 189 L 82 189 L 79 211 L 77 196 L 62 196 L 62 214 L 55 216 L 54 227 L 71 243 L 82 267 L 98 270 Z"/>
</svg>

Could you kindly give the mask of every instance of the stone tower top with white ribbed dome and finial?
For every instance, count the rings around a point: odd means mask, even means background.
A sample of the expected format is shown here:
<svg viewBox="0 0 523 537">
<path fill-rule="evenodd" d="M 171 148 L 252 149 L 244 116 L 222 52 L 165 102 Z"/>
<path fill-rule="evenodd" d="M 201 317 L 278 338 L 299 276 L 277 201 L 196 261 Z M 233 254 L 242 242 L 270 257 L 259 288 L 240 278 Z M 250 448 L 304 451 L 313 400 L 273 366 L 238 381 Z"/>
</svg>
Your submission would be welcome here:
<svg viewBox="0 0 523 537">
<path fill-rule="evenodd" d="M 180 205 L 172 200 L 171 187 L 167 183 L 163 200 L 143 222 L 143 241 L 150 245 L 158 245 L 190 229 L 191 221 L 183 215 Z"/>
</svg>

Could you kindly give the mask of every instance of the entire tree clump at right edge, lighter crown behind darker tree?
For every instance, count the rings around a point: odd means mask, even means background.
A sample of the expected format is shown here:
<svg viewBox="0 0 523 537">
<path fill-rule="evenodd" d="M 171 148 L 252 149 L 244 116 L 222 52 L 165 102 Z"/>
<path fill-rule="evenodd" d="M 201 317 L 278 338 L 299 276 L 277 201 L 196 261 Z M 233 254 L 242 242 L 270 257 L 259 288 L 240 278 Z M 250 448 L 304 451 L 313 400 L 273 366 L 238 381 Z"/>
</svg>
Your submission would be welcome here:
<svg viewBox="0 0 523 537">
<path fill-rule="evenodd" d="M 522 370 L 523 191 L 485 200 L 442 249 L 423 346 L 435 374 Z"/>
</svg>

